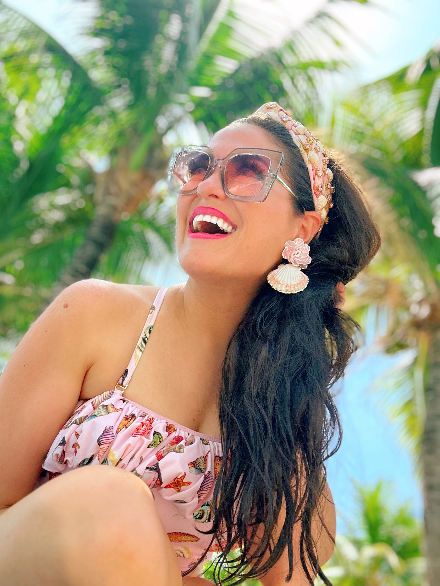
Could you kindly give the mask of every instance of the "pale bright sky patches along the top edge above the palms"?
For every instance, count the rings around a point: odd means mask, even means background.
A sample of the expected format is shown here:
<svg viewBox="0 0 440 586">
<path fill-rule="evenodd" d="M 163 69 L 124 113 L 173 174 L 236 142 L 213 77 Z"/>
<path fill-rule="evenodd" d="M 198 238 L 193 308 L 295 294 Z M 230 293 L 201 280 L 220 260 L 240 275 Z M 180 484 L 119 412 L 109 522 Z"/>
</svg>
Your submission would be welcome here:
<svg viewBox="0 0 440 586">
<path fill-rule="evenodd" d="M 76 32 L 94 12 L 96 2 L 86 0 L 4 0 L 68 47 L 78 46 Z M 345 39 L 361 83 L 385 77 L 426 53 L 440 38 L 438 0 L 235 0 L 236 10 L 259 27 L 262 43 L 281 42 L 289 31 L 326 6 L 347 29 Z M 263 40 L 263 37 L 266 41 Z M 313 39 L 316 45 L 319 39 Z"/>
</svg>

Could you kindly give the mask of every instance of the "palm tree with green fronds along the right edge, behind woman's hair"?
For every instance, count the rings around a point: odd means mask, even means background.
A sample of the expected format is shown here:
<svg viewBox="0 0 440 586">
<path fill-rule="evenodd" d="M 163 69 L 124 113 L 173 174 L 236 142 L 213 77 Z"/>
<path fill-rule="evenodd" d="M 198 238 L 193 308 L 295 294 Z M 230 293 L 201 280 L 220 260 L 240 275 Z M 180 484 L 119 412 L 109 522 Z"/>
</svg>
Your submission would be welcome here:
<svg viewBox="0 0 440 586">
<path fill-rule="evenodd" d="M 370 185 L 384 236 L 380 254 L 353 282 L 347 309 L 361 316 L 368 306 L 387 308 L 384 351 L 415 350 L 408 371 L 387 386 L 405 385 L 393 410 L 422 473 L 430 586 L 440 584 L 439 55 L 436 46 L 360 88 L 337 106 L 331 129 L 333 144 Z"/>
</svg>

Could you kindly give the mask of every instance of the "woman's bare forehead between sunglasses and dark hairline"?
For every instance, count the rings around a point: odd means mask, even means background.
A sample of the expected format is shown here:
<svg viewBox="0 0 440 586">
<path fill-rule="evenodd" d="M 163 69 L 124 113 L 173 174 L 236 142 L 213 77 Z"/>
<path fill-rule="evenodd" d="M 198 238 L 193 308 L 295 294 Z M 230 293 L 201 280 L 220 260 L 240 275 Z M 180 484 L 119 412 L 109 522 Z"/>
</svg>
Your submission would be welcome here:
<svg viewBox="0 0 440 586">
<path fill-rule="evenodd" d="M 280 151 L 270 135 L 264 128 L 254 124 L 238 124 L 226 126 L 214 134 L 208 142 L 217 159 L 228 155 L 235 148 L 266 148 L 272 151 Z"/>
</svg>

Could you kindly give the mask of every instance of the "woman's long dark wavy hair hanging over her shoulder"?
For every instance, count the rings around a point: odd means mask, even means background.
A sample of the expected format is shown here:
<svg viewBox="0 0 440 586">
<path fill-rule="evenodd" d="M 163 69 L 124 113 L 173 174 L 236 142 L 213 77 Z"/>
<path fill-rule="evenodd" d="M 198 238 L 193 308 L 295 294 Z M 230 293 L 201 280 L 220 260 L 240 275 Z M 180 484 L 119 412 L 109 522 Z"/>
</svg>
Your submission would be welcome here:
<svg viewBox="0 0 440 586">
<path fill-rule="evenodd" d="M 292 197 L 295 212 L 314 210 L 307 166 L 286 128 L 263 113 L 232 124 L 253 124 L 270 133 L 285 154 L 282 175 L 297 195 Z M 380 248 L 380 234 L 356 184 L 331 151 L 326 156 L 334 176 L 334 206 L 319 239 L 309 243 L 307 288 L 286 295 L 265 282 L 226 350 L 218 403 L 224 457 L 211 501 L 214 523 L 202 532 L 218 542 L 216 584 L 221 583 L 218 569 L 232 550 L 241 554 L 229 562 L 234 568 L 229 579 L 236 577 L 233 583 L 242 584 L 268 573 L 286 545 L 290 580 L 298 561 L 293 559 L 293 526 L 300 522 L 304 573 L 313 585 L 308 562 L 312 573 L 331 586 L 317 559 L 312 517 L 319 514 L 326 483 L 324 461 L 341 441 L 330 388 L 356 350 L 359 330 L 357 322 L 335 308 L 341 301 L 336 285 L 351 281 L 371 261 Z M 283 498 L 285 523 L 272 548 Z M 264 533 L 249 555 L 259 524 Z M 269 558 L 262 564 L 267 551 Z M 251 562 L 253 567 L 243 574 Z"/>
</svg>

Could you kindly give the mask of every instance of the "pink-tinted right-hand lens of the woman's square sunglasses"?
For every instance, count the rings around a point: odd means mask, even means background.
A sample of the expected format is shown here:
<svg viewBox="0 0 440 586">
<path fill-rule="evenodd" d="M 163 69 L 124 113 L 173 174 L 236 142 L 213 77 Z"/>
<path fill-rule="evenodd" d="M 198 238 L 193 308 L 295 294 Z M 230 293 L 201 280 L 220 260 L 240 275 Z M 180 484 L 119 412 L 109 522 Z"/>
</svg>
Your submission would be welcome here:
<svg viewBox="0 0 440 586">
<path fill-rule="evenodd" d="M 269 169 L 270 158 L 266 155 L 234 155 L 225 169 L 226 188 L 232 195 L 257 195 L 265 184 Z"/>
</svg>

